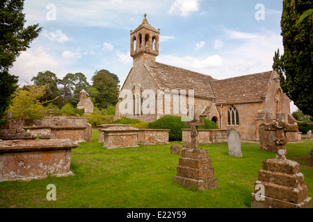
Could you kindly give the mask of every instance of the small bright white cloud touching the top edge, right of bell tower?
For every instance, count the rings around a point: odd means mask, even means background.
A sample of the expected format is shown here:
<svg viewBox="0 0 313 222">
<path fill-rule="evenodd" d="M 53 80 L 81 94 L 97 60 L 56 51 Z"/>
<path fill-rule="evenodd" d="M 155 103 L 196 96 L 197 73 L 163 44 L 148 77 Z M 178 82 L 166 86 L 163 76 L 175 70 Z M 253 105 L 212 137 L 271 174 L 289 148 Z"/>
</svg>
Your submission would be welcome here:
<svg viewBox="0 0 313 222">
<path fill-rule="evenodd" d="M 168 10 L 168 14 L 179 13 L 180 15 L 186 17 L 192 12 L 197 12 L 199 10 L 198 6 L 198 0 L 176 0 L 172 3 L 170 10 Z"/>
</svg>

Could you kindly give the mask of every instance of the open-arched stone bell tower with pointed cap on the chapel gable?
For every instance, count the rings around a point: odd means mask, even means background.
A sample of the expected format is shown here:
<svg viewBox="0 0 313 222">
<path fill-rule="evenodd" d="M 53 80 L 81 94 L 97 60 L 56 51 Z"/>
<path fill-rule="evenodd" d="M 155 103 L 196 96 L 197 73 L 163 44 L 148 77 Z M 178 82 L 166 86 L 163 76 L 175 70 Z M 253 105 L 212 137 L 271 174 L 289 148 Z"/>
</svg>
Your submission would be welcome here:
<svg viewBox="0 0 313 222">
<path fill-rule="evenodd" d="M 153 26 L 147 22 L 147 14 L 144 15 L 143 23 L 134 31 L 131 31 L 130 55 L 134 58 L 134 65 L 138 62 L 155 63 L 159 55 L 159 34 Z"/>
</svg>

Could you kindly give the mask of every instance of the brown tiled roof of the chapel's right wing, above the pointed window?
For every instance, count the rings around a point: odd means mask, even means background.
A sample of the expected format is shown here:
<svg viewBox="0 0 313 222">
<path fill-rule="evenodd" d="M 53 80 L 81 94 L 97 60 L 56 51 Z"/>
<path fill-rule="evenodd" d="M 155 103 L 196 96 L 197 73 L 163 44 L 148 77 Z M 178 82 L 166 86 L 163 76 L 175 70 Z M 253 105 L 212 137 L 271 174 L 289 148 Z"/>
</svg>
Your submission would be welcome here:
<svg viewBox="0 0 313 222">
<path fill-rule="evenodd" d="M 250 103 L 264 101 L 273 71 L 224 80 L 213 80 L 211 86 L 216 104 Z"/>
</svg>

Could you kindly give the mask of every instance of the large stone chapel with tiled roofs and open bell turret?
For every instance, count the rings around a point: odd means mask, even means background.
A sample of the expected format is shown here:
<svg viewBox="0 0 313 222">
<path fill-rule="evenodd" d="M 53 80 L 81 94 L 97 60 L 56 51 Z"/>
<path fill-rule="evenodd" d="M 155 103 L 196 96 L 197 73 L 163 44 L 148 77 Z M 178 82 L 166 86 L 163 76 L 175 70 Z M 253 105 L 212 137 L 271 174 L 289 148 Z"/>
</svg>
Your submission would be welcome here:
<svg viewBox="0 0 313 222">
<path fill-rule="evenodd" d="M 151 26 L 146 15 L 142 24 L 131 31 L 130 56 L 134 63 L 120 92 L 123 89 L 131 91 L 134 107 L 132 112 L 122 114 L 120 105 L 124 98 L 119 96 L 115 119 L 125 116 L 155 121 L 166 114 L 184 116 L 175 112 L 173 98 L 185 90 L 188 112 L 193 110 L 194 117 L 215 121 L 220 129 L 236 128 L 243 140 L 257 141 L 259 125 L 271 122 L 277 112 L 283 112 L 289 123 L 296 122 L 290 114 L 290 99 L 282 92 L 275 71 L 217 80 L 209 75 L 166 65 L 156 61 L 159 35 L 160 29 Z M 142 112 L 141 105 L 147 99 L 143 95 L 145 89 L 154 91 L 155 112 Z M 188 103 L 189 89 L 193 90 L 193 103 Z M 160 90 L 171 94 L 172 100 L 164 100 L 166 93 L 158 94 Z M 164 112 L 167 106 L 170 106 L 170 113 Z"/>
</svg>

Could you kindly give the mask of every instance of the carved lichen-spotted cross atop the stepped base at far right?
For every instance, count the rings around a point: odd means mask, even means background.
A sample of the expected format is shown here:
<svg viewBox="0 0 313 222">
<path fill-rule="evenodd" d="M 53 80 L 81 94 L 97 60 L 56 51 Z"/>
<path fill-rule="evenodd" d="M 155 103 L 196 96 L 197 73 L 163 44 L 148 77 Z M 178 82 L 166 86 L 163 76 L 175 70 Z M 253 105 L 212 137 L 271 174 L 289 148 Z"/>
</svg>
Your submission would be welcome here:
<svg viewBox="0 0 313 222">
<path fill-rule="evenodd" d="M 286 160 L 287 155 L 287 132 L 298 132 L 298 126 L 296 124 L 288 124 L 284 121 L 284 114 L 278 112 L 276 114 L 277 121 L 273 121 L 270 124 L 266 124 L 265 130 L 276 131 L 275 145 L 278 146 L 276 151 L 276 158 Z"/>
</svg>

